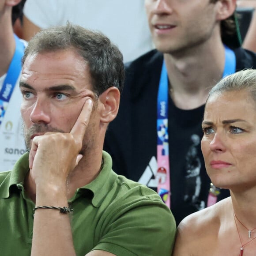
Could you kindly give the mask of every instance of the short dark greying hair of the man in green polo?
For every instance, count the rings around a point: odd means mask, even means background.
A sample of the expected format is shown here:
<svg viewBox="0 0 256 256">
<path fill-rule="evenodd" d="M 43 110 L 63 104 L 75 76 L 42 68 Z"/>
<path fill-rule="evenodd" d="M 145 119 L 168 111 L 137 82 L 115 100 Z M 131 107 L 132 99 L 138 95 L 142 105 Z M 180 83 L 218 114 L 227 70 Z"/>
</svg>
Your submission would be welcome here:
<svg viewBox="0 0 256 256">
<path fill-rule="evenodd" d="M 38 32 L 28 42 L 22 64 L 30 54 L 64 49 L 74 49 L 79 56 L 83 57 L 85 64 L 88 64 L 92 87 L 96 95 L 102 94 L 112 86 L 122 91 L 124 63 L 120 50 L 102 33 L 71 23 Z"/>
</svg>

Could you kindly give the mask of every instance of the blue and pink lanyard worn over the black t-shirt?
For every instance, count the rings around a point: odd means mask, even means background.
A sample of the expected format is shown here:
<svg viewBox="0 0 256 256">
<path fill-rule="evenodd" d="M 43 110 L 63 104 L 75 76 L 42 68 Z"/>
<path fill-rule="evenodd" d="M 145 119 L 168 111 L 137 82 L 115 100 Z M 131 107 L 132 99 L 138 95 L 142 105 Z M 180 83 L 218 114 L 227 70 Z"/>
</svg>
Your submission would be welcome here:
<svg viewBox="0 0 256 256">
<path fill-rule="evenodd" d="M 225 67 L 222 78 L 236 71 L 236 56 L 233 50 L 225 46 Z M 170 168 L 169 168 L 169 136 L 168 136 L 168 75 L 165 62 L 162 64 L 162 72 L 158 87 L 157 99 L 157 181 L 158 194 L 168 207 L 170 207 Z M 217 193 L 216 193 L 217 192 Z M 211 185 L 207 206 L 217 201 L 218 188 Z"/>
</svg>

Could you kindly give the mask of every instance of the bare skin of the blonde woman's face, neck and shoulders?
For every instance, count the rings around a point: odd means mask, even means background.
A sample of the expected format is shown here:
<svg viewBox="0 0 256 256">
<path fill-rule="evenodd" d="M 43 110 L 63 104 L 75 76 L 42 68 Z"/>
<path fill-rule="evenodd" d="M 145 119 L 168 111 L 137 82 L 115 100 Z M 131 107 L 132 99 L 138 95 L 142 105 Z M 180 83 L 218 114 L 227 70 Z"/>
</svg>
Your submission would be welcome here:
<svg viewBox="0 0 256 256">
<path fill-rule="evenodd" d="M 230 189 L 231 197 L 184 218 L 177 229 L 174 256 L 239 255 L 248 238 L 248 229 L 256 226 L 255 217 L 255 102 L 246 91 L 213 94 L 207 101 L 201 142 L 207 173 L 218 187 Z M 246 111 L 245 111 L 246 109 Z M 212 161 L 222 161 L 218 164 Z M 239 230 L 241 241 L 237 229 Z M 253 256 L 256 240 L 244 247 L 244 255 Z"/>
</svg>

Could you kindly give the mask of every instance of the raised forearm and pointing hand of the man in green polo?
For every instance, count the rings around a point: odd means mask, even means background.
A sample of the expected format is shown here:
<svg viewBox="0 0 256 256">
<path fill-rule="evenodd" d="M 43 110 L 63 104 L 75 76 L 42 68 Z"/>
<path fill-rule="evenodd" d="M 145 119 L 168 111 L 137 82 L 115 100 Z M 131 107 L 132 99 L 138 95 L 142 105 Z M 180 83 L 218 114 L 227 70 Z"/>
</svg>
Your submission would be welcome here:
<svg viewBox="0 0 256 256">
<path fill-rule="evenodd" d="M 30 178 L 36 184 L 36 207 L 68 207 L 67 177 L 82 158 L 79 151 L 90 119 L 92 101 L 83 109 L 70 133 L 47 132 L 33 139 Z M 69 214 L 37 209 L 34 214 L 31 256 L 75 256 Z"/>
</svg>

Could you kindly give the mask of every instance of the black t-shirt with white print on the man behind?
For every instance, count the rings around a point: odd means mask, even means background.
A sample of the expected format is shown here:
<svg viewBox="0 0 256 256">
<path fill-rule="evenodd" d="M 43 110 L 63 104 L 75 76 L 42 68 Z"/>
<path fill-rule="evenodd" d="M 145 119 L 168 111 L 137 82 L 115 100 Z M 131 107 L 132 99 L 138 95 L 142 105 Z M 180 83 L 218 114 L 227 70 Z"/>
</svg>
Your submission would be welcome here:
<svg viewBox="0 0 256 256">
<path fill-rule="evenodd" d="M 235 49 L 236 71 L 256 67 L 256 54 Z M 113 158 L 113 170 L 157 190 L 157 95 L 163 56 L 153 50 L 126 65 L 126 81 L 117 118 L 109 124 L 104 150 Z M 169 97 L 169 158 L 171 210 L 177 224 L 207 205 L 210 179 L 200 141 L 204 105 L 178 109 Z M 218 200 L 230 193 L 222 189 Z"/>
</svg>

